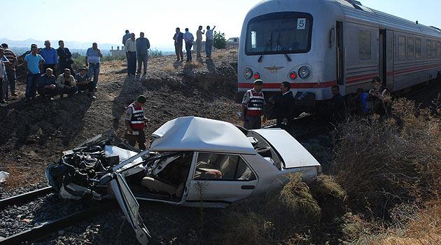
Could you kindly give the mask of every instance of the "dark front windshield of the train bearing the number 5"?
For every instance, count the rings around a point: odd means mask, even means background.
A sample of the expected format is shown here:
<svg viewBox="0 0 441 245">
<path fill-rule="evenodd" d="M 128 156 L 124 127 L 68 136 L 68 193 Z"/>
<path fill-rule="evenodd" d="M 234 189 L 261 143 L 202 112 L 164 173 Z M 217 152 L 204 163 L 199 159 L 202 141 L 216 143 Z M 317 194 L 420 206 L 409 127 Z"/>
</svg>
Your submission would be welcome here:
<svg viewBox="0 0 441 245">
<path fill-rule="evenodd" d="M 279 12 L 260 15 L 248 22 L 246 55 L 277 55 L 309 52 L 312 16 Z"/>
</svg>

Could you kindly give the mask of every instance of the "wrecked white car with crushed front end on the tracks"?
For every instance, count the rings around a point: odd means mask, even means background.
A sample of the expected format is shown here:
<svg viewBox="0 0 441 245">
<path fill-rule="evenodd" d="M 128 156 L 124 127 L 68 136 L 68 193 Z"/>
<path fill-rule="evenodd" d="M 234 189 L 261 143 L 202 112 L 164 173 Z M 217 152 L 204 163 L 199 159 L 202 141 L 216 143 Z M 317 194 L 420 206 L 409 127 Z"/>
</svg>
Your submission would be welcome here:
<svg viewBox="0 0 441 245">
<path fill-rule="evenodd" d="M 112 133 L 64 152 L 46 169 L 48 183 L 64 198 L 116 198 L 138 240 L 150 235 L 138 200 L 197 207 L 226 207 L 286 182 L 302 172 L 313 178 L 321 165 L 286 131 L 244 130 L 218 120 L 171 120 L 139 152 Z"/>
</svg>

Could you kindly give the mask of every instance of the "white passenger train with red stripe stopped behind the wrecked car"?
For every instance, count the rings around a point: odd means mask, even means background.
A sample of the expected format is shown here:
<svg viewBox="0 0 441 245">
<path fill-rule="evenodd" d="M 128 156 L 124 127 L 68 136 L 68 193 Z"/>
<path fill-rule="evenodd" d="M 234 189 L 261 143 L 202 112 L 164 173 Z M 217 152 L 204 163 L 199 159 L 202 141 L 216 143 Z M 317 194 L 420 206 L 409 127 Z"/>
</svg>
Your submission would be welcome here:
<svg viewBox="0 0 441 245">
<path fill-rule="evenodd" d="M 392 92 L 441 78 L 441 31 L 352 0 L 261 1 L 246 15 L 238 61 L 239 101 L 264 81 L 265 97 L 291 83 L 296 103 L 331 99 L 372 87 L 379 76 Z"/>
</svg>

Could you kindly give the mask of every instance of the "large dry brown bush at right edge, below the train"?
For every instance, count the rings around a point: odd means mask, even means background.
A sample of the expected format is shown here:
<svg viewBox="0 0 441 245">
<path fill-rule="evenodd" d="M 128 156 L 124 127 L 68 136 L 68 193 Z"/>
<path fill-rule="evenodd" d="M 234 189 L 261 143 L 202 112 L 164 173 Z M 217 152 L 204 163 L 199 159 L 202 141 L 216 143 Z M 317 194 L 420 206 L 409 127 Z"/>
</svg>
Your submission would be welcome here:
<svg viewBox="0 0 441 245">
<path fill-rule="evenodd" d="M 440 118 L 406 99 L 392 109 L 390 118 L 350 118 L 335 130 L 337 182 L 351 207 L 379 218 L 441 193 Z"/>
</svg>

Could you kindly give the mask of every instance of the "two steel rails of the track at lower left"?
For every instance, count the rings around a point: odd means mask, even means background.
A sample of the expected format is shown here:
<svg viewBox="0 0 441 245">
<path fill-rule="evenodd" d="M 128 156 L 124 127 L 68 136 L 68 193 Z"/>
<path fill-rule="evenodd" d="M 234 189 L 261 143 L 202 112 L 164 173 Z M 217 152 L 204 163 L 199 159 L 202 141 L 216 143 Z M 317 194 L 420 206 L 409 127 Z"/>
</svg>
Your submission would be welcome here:
<svg viewBox="0 0 441 245">
<path fill-rule="evenodd" d="M 31 191 L 29 193 L 24 193 L 21 195 L 16 195 L 14 197 L 8 197 L 3 200 L 0 200 L 0 210 L 5 209 L 6 207 L 13 205 L 20 205 L 25 202 L 31 202 L 36 197 L 41 197 L 43 195 L 48 195 L 52 193 L 52 188 L 41 188 L 38 190 Z M 37 225 L 29 230 L 25 230 L 19 232 L 15 235 L 11 235 L 4 239 L 0 240 L 0 245 L 3 244 L 22 244 L 22 243 L 31 243 L 34 241 L 41 240 L 45 237 L 50 236 L 53 232 L 57 232 L 58 230 L 62 230 L 63 228 L 69 227 L 71 225 L 75 225 L 76 223 L 80 223 L 83 221 L 88 221 L 99 214 L 104 214 L 106 211 L 110 211 L 111 209 L 118 207 L 116 202 L 96 202 L 91 201 L 90 207 L 87 209 L 83 209 L 82 211 L 78 211 L 74 214 L 70 214 L 68 216 L 64 216 L 63 218 L 58 218 L 55 221 L 50 221 L 43 223 L 41 225 Z"/>
</svg>

